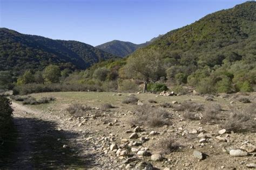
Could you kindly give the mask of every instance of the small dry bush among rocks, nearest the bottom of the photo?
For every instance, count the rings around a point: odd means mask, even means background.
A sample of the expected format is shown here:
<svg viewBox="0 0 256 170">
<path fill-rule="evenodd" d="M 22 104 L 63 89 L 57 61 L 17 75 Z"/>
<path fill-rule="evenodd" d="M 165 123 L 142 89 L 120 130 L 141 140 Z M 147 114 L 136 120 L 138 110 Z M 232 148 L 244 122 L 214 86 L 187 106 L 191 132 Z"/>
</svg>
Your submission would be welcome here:
<svg viewBox="0 0 256 170">
<path fill-rule="evenodd" d="M 170 154 L 179 150 L 181 147 L 172 137 L 166 137 L 163 140 L 159 140 L 158 148 L 160 148 L 160 152 L 163 154 Z"/>
</svg>

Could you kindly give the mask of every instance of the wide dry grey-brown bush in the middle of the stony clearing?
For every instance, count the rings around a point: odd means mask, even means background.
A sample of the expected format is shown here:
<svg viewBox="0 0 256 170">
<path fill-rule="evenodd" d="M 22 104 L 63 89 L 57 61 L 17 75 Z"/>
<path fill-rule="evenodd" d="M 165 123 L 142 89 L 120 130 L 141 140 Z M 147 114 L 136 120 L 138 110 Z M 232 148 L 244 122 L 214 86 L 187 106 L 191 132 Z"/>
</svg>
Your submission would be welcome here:
<svg viewBox="0 0 256 170">
<path fill-rule="evenodd" d="M 137 108 L 136 112 L 136 118 L 130 120 L 131 124 L 144 124 L 150 127 L 159 127 L 170 124 L 170 114 L 166 110 L 142 105 Z"/>
</svg>

